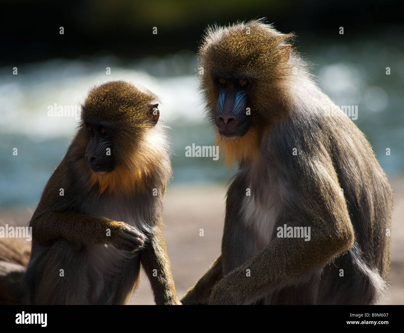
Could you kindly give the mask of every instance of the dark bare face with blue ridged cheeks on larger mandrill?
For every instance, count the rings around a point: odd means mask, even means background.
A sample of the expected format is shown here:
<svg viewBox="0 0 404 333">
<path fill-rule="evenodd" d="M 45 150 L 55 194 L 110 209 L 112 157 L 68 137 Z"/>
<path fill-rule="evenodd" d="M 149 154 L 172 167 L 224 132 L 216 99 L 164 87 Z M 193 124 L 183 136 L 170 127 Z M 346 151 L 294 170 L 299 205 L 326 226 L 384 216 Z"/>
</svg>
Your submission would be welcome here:
<svg viewBox="0 0 404 333">
<path fill-rule="evenodd" d="M 219 89 L 215 123 L 221 136 L 234 140 L 247 133 L 251 116 L 246 115 L 250 79 L 238 73 L 216 73 L 213 81 Z"/>
</svg>

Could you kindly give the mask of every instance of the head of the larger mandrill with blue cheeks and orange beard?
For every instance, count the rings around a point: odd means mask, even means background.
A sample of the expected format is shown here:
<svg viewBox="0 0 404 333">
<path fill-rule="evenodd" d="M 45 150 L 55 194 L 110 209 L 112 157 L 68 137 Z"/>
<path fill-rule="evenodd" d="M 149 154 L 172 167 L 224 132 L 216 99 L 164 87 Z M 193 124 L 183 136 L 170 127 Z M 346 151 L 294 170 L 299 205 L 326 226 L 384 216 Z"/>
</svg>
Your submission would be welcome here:
<svg viewBox="0 0 404 333">
<path fill-rule="evenodd" d="M 286 116 L 292 37 L 261 21 L 207 29 L 198 52 L 198 74 L 206 115 L 216 125 L 219 143 L 237 144 L 239 150 L 246 144 L 243 151 L 248 152 L 247 145 Z"/>
</svg>

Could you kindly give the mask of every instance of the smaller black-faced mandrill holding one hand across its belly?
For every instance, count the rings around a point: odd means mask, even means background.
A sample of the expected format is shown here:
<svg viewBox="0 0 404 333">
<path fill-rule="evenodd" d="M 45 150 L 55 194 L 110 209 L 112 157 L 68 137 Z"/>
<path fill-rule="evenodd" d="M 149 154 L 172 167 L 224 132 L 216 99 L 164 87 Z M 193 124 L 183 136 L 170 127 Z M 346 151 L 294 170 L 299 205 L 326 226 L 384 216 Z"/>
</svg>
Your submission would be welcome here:
<svg viewBox="0 0 404 333">
<path fill-rule="evenodd" d="M 156 96 L 93 88 L 32 216 L 31 304 L 126 304 L 143 266 L 156 304 L 181 304 L 161 232 L 171 165 Z"/>
</svg>

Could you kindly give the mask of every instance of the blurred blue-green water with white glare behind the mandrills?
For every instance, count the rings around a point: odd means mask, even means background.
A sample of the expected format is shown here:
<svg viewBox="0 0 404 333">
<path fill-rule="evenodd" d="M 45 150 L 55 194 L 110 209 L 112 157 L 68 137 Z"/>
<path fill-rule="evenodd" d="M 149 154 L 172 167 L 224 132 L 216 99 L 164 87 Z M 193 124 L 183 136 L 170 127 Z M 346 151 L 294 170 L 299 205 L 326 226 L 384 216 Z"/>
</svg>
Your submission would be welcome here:
<svg viewBox="0 0 404 333">
<path fill-rule="evenodd" d="M 299 35 L 296 46 L 312 64 L 319 86 L 337 105 L 358 105 L 354 122 L 371 142 L 381 166 L 389 177 L 402 176 L 403 34 L 391 28 L 354 39 L 337 32 L 334 38 L 313 36 L 316 31 Z M 48 117 L 48 106 L 79 105 L 89 88 L 109 80 L 137 82 L 160 96 L 160 119 L 169 127 L 173 148 L 172 184 L 223 182 L 234 170 L 225 168 L 223 161 L 185 158 L 187 145 L 214 144 L 199 100 L 195 45 L 144 57 L 139 57 L 139 50 L 132 59 L 100 46 L 90 55 L 20 61 L 18 75 L 12 75 L 13 65 L 0 67 L 0 206 L 36 205 L 65 155 L 78 121 Z M 391 75 L 386 75 L 386 67 Z M 17 156 L 13 148 L 18 149 Z M 386 148 L 391 155 L 386 155 Z"/>
</svg>

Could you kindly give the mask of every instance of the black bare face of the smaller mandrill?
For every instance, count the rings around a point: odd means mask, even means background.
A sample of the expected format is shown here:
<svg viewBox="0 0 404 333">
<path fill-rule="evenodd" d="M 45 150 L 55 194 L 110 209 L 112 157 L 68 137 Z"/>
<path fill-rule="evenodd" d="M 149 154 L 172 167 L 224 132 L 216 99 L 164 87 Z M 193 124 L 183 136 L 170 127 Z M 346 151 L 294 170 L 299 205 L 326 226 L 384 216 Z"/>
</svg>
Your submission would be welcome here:
<svg viewBox="0 0 404 333">
<path fill-rule="evenodd" d="M 86 164 L 98 175 L 111 172 L 115 168 L 112 154 L 113 125 L 108 121 L 86 119 L 85 126 L 89 138 Z"/>
</svg>

